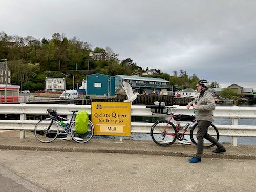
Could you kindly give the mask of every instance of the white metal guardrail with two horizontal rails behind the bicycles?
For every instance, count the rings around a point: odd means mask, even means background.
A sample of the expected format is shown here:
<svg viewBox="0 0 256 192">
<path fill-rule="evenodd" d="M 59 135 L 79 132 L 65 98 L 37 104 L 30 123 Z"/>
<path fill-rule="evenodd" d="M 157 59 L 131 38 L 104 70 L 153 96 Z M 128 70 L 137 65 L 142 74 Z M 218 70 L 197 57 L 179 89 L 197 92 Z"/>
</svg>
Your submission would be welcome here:
<svg viewBox="0 0 256 192">
<path fill-rule="evenodd" d="M 193 110 L 187 110 L 186 106 L 175 105 L 173 109 L 175 114 L 192 115 Z M 75 105 L 75 104 L 0 104 L 0 114 L 19 115 L 20 119 L 4 119 L 0 120 L 0 129 L 4 130 L 20 130 L 20 138 L 25 138 L 25 130 L 34 130 L 38 120 L 26 120 L 26 115 L 46 115 L 47 109 L 57 109 L 59 115 L 68 115 L 71 117 L 70 110 L 85 110 L 91 114 L 91 105 Z M 131 106 L 131 116 L 150 117 L 150 116 L 166 116 L 163 114 L 152 114 L 150 108 L 146 106 Z M 168 117 L 168 116 L 166 116 Z M 238 137 L 256 137 L 256 125 L 238 125 L 238 119 L 255 119 L 255 107 L 240 106 L 217 106 L 214 110 L 215 118 L 232 119 L 231 125 L 218 125 L 213 123 L 219 130 L 220 136 L 229 136 L 232 138 L 232 145 L 237 146 Z M 132 133 L 150 133 L 153 123 L 131 122 Z"/>
</svg>

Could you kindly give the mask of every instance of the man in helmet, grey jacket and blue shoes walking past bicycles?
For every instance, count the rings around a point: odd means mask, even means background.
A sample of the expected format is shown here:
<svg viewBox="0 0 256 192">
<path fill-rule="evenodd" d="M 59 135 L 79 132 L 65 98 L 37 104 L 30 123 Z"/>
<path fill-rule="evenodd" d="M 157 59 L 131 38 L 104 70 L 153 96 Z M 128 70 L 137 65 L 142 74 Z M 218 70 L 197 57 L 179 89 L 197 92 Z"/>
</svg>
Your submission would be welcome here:
<svg viewBox="0 0 256 192">
<path fill-rule="evenodd" d="M 201 156 L 204 149 L 204 138 L 217 146 L 217 148 L 212 152 L 221 153 L 226 151 L 225 147 L 221 143 L 207 133 L 208 127 L 211 122 L 214 121 L 215 109 L 214 93 L 208 90 L 208 81 L 198 81 L 197 90 L 200 92 L 200 95 L 187 104 L 187 109 L 189 109 L 190 106 L 193 106 L 194 111 L 196 111 L 196 119 L 198 120 L 197 153 L 194 157 L 188 159 L 190 163 L 201 162 Z"/>
</svg>

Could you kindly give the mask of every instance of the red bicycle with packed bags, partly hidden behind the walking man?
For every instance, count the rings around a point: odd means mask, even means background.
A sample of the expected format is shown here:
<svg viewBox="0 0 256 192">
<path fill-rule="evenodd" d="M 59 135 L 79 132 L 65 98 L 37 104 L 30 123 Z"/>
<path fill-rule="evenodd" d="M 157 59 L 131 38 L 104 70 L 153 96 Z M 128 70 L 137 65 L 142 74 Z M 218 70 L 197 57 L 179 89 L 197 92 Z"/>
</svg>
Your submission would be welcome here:
<svg viewBox="0 0 256 192">
<path fill-rule="evenodd" d="M 147 105 L 147 108 L 151 108 L 153 113 L 164 113 L 170 115 L 169 120 L 157 120 L 151 127 L 150 135 L 153 141 L 159 146 L 169 146 L 175 143 L 176 139 L 183 144 L 187 144 L 188 141 L 185 138 L 186 132 L 190 129 L 190 140 L 197 145 L 197 129 L 198 121 L 195 119 L 195 115 L 174 114 L 173 109 L 175 107 Z M 186 121 L 186 125 L 182 127 L 180 122 Z M 215 125 L 211 124 L 208 127 L 208 134 L 219 140 L 219 132 Z M 188 134 L 187 134 L 188 135 Z M 182 142 L 183 141 L 183 142 Z M 191 144 L 191 143 L 190 143 Z M 204 148 L 213 147 L 214 144 L 204 139 Z"/>
</svg>

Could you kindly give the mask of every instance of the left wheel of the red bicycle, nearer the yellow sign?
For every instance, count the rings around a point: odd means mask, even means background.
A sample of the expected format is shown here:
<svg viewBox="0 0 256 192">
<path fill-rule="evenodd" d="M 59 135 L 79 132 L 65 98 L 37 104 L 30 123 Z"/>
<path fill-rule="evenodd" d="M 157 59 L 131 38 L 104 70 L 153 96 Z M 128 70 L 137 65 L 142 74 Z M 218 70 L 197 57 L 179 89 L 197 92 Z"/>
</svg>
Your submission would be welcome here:
<svg viewBox="0 0 256 192">
<path fill-rule="evenodd" d="M 165 133 L 163 133 L 166 126 L 167 128 L 165 130 Z M 153 141 L 159 146 L 169 146 L 176 141 L 176 136 L 168 134 L 177 135 L 176 127 L 172 122 L 168 122 L 166 120 L 156 121 L 151 127 L 150 135 Z"/>
</svg>

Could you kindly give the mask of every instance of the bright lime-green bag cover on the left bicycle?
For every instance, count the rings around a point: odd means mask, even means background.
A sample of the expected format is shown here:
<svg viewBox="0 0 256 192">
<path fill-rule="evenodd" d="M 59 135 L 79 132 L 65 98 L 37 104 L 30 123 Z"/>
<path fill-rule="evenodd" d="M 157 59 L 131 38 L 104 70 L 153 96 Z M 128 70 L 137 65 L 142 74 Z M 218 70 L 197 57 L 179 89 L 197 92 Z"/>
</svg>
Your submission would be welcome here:
<svg viewBox="0 0 256 192">
<path fill-rule="evenodd" d="M 89 114 L 86 111 L 78 111 L 75 118 L 75 130 L 78 134 L 84 134 L 88 130 Z"/>
</svg>

